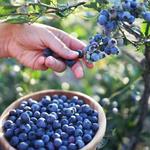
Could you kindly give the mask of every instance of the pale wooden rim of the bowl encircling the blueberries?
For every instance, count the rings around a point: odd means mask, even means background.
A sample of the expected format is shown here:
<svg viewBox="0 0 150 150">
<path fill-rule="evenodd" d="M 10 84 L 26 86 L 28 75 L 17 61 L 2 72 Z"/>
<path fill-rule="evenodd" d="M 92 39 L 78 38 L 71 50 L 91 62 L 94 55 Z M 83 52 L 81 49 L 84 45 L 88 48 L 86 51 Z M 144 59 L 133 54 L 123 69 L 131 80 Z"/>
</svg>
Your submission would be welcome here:
<svg viewBox="0 0 150 150">
<path fill-rule="evenodd" d="M 86 99 L 87 101 L 91 101 L 92 103 L 92 107 L 96 107 L 96 110 L 98 111 L 98 120 L 99 120 L 99 130 L 97 131 L 97 133 L 95 134 L 94 138 L 92 139 L 92 141 L 90 143 L 88 143 L 85 147 L 83 147 L 81 150 L 94 150 L 96 149 L 96 145 L 102 140 L 105 131 L 106 131 L 106 116 L 104 113 L 103 108 L 101 107 L 101 105 L 95 101 L 92 97 L 81 93 L 79 91 L 67 91 L 67 90 L 55 90 L 55 89 L 50 89 L 50 90 L 42 90 L 42 91 L 37 91 L 37 92 L 33 92 L 30 94 L 27 94 L 23 97 L 20 97 L 19 99 L 15 100 L 13 103 L 11 103 L 2 113 L 2 115 L 0 116 L 0 141 L 3 140 L 4 144 L 9 145 L 9 149 L 11 150 L 15 150 L 15 148 L 13 148 L 8 141 L 6 140 L 6 138 L 3 135 L 3 121 L 7 118 L 7 116 L 9 115 L 9 111 L 13 108 L 17 108 L 16 104 L 19 105 L 21 101 L 25 100 L 25 99 L 29 99 L 30 97 L 33 96 L 38 96 L 38 95 L 52 95 L 52 93 L 59 93 L 59 94 L 70 94 L 70 95 L 76 95 L 78 97 L 83 97 L 84 99 Z M 36 100 L 36 99 L 35 99 Z M 91 147 L 94 147 L 91 149 Z"/>
</svg>

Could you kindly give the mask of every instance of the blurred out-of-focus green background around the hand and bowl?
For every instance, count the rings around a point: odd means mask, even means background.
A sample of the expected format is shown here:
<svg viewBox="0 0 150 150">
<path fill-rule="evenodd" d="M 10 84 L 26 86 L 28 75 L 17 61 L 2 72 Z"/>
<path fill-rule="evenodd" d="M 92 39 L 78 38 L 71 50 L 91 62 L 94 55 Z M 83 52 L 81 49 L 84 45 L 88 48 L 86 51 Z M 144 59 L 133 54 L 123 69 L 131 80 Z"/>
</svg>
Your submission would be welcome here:
<svg viewBox="0 0 150 150">
<path fill-rule="evenodd" d="M 96 25 L 97 12 L 92 9 L 77 9 L 65 18 L 42 17 L 38 21 L 62 29 L 88 42 L 89 37 L 100 31 Z M 132 47 L 122 50 L 134 51 Z M 99 148 L 105 150 L 126 150 L 130 132 L 134 130 L 138 118 L 138 108 L 143 82 L 141 70 L 124 53 L 108 57 L 95 64 L 94 69 L 84 67 L 85 76 L 74 78 L 70 69 L 64 73 L 33 71 L 13 59 L 0 60 L 0 113 L 19 97 L 45 89 L 76 90 L 98 101 L 106 111 L 107 132 Z M 149 150 L 149 120 L 145 120 L 145 130 L 141 134 L 139 150 Z"/>
</svg>

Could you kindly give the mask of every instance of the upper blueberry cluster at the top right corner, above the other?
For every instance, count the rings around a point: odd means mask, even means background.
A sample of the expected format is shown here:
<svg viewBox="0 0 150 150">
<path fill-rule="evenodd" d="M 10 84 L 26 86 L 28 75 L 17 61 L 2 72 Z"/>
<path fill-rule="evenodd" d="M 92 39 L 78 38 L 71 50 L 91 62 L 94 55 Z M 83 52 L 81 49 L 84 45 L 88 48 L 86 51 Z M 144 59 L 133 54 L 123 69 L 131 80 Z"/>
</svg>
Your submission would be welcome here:
<svg viewBox="0 0 150 150">
<path fill-rule="evenodd" d="M 120 6 L 113 6 L 108 10 L 102 10 L 98 17 L 98 23 L 103 26 L 105 34 L 115 31 L 119 23 L 133 24 L 135 18 L 143 17 L 150 22 L 150 12 L 146 10 L 146 3 L 136 0 L 125 0 Z"/>
</svg>

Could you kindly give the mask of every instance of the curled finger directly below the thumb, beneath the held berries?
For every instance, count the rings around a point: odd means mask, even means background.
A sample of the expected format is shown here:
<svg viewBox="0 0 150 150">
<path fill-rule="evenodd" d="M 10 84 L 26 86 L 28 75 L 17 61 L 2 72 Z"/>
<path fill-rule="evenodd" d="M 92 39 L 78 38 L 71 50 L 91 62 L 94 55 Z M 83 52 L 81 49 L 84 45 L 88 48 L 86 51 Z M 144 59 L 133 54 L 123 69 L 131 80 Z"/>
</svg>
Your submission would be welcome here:
<svg viewBox="0 0 150 150">
<path fill-rule="evenodd" d="M 45 65 L 56 72 L 63 72 L 66 69 L 66 65 L 62 61 L 52 56 L 46 58 Z"/>
</svg>

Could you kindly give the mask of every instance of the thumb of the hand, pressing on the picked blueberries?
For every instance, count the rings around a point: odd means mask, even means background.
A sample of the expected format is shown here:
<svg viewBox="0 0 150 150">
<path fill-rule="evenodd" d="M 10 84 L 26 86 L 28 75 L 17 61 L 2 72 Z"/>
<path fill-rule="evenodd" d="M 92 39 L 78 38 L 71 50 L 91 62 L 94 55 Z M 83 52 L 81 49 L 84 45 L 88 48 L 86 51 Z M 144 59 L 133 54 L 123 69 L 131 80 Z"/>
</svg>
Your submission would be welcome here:
<svg viewBox="0 0 150 150">
<path fill-rule="evenodd" d="M 65 59 L 75 59 L 78 57 L 78 53 L 69 49 L 59 38 L 57 38 L 52 32 L 46 31 L 42 37 L 43 43 L 56 54 Z"/>
</svg>

